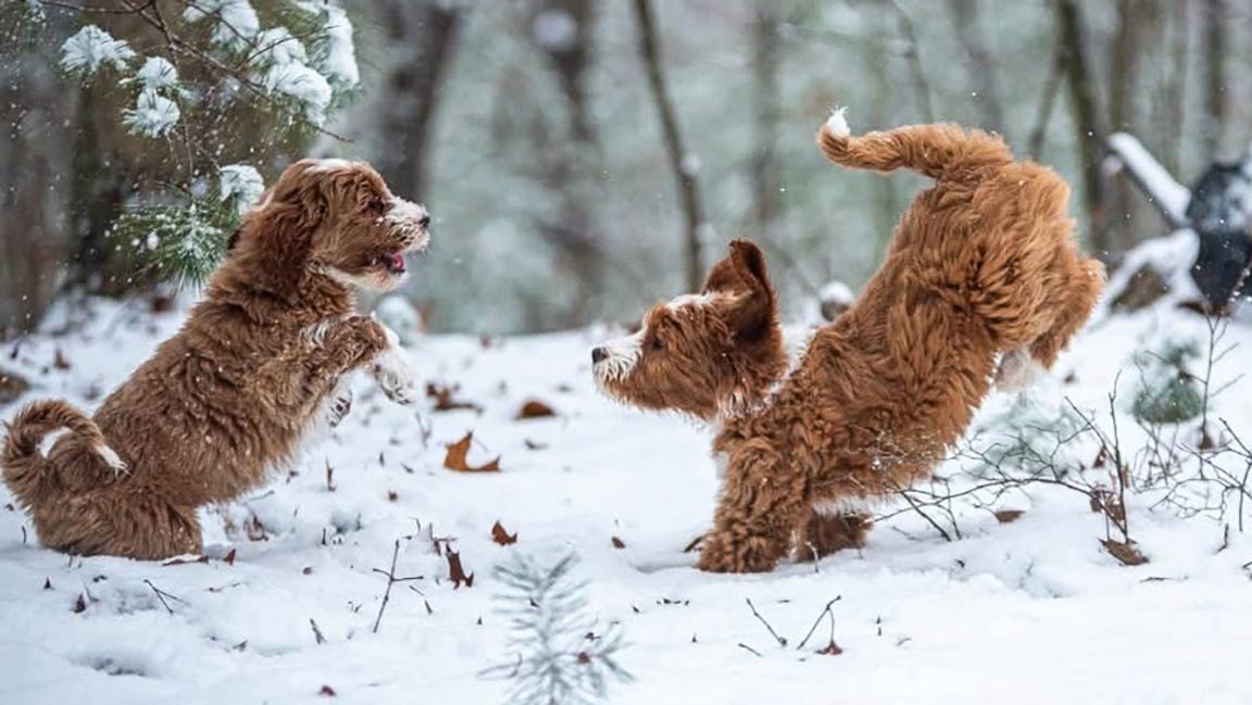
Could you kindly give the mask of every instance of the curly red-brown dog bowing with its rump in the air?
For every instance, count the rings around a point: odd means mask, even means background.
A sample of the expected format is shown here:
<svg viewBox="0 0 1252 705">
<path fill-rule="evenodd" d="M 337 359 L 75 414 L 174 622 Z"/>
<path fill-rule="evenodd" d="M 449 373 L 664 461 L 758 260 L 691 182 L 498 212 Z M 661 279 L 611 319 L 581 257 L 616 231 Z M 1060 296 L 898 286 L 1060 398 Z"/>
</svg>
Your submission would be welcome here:
<svg viewBox="0 0 1252 705">
<path fill-rule="evenodd" d="M 854 138 L 836 113 L 818 142 L 835 164 L 910 168 L 935 184 L 790 371 L 765 258 L 747 240 L 700 294 L 592 351 L 612 397 L 717 428 L 722 488 L 704 570 L 766 571 L 793 546 L 804 558 L 863 545 L 868 510 L 931 472 L 993 374 L 1009 387 L 1050 367 L 1103 289 L 1103 267 L 1075 248 L 1065 183 L 1014 162 L 999 138 L 957 125 Z"/>
</svg>

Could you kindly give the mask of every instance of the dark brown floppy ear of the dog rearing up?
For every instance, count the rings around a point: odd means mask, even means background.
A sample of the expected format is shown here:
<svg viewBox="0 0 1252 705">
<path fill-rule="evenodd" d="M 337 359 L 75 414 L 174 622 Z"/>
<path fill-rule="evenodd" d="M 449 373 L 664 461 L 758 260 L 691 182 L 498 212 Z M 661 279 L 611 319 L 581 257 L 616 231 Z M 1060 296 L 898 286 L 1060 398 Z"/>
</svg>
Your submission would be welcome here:
<svg viewBox="0 0 1252 705">
<path fill-rule="evenodd" d="M 309 162 L 287 168 L 278 183 L 250 212 L 237 247 L 254 280 L 288 298 L 308 274 L 313 233 L 327 213 L 327 200 L 309 173 Z"/>
</svg>

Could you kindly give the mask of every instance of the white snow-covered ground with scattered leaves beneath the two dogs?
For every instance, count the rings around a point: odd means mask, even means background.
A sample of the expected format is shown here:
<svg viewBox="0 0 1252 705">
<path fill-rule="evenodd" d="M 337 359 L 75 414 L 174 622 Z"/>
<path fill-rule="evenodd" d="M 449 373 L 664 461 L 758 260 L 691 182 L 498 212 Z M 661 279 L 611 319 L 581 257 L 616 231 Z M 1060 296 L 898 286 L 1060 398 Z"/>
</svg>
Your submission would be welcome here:
<svg viewBox="0 0 1252 705">
<path fill-rule="evenodd" d="M 30 397 L 90 407 L 180 322 L 143 308 L 95 303 L 75 332 L 33 337 L 4 364 L 35 383 Z M 1033 393 L 1103 412 L 1118 372 L 1127 389 L 1133 382 L 1133 352 L 1167 332 L 1207 336 L 1188 313 L 1106 318 Z M 204 513 L 208 562 L 41 550 L 0 490 L 0 702 L 313 702 L 331 691 L 344 702 L 501 702 L 508 684 L 480 675 L 512 657 L 491 569 L 511 551 L 571 548 L 588 610 L 629 641 L 635 681 L 615 686 L 612 702 L 1252 701 L 1252 540 L 1232 527 L 1219 551 L 1219 523 L 1152 510 L 1149 495 L 1129 500 L 1151 558 L 1136 567 L 1101 546 L 1104 520 L 1085 498 L 1030 488 L 1005 498 L 1025 510 L 1012 523 L 958 505 L 959 541 L 906 513 L 880 521 L 864 551 L 816 569 L 696 571 L 682 548 L 712 512 L 706 431 L 601 398 L 588 348 L 602 337 L 419 341 L 411 351 L 423 381 L 459 384 L 456 397 L 481 413 L 424 402 L 414 414 L 362 381 L 349 418 L 290 475 Z M 1228 379 L 1246 367 L 1252 329 L 1234 324 L 1224 342 L 1241 344 L 1218 366 Z M 1252 441 L 1249 392 L 1237 382 L 1214 416 Z M 517 421 L 531 398 L 557 416 Z M 982 418 L 1012 403 L 994 396 Z M 1129 417 L 1121 422 L 1123 442 L 1142 442 Z M 470 461 L 500 456 L 501 472 L 442 466 L 444 446 L 467 431 Z M 492 541 L 497 521 L 516 543 Z M 432 531 L 459 552 L 471 587 L 448 581 Z M 373 569 L 388 567 L 397 538 L 397 574 L 422 579 L 396 585 L 373 634 L 387 582 Z M 836 596 L 843 652 L 815 652 L 826 622 L 796 650 Z"/>
</svg>

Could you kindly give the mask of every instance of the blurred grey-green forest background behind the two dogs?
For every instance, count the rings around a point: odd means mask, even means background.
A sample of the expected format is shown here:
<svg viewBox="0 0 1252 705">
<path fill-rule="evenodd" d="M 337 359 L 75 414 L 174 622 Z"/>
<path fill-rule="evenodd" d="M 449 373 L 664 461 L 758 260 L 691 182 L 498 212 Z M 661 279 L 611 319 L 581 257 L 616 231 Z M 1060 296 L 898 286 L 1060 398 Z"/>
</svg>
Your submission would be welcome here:
<svg viewBox="0 0 1252 705">
<path fill-rule="evenodd" d="M 116 80 L 66 79 L 61 45 L 99 24 L 159 48 L 130 9 L 193 3 L 3 1 L 10 336 L 60 296 L 150 291 L 114 225 L 177 169 L 243 162 L 268 183 L 303 155 L 372 162 L 434 215 L 406 288 L 429 327 L 503 333 L 635 317 L 732 237 L 762 244 L 793 311 L 828 280 L 859 286 L 921 180 L 825 163 L 813 135 L 836 104 L 855 131 L 1002 133 L 1070 180 L 1109 264 L 1171 228 L 1109 167 L 1108 134 L 1137 135 L 1183 183 L 1252 140 L 1247 0 L 342 0 L 359 84 L 321 129 L 208 104 L 156 140 L 119 125 Z M 252 5 L 280 16 L 285 1 Z"/>
</svg>

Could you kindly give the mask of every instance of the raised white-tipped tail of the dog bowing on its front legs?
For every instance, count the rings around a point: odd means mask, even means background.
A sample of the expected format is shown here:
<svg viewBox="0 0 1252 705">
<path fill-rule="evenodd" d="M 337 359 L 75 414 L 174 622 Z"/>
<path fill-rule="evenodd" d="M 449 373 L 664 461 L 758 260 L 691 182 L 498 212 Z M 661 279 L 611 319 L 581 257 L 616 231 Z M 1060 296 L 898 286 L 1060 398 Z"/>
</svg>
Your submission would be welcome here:
<svg viewBox="0 0 1252 705">
<path fill-rule="evenodd" d="M 836 109 L 818 130 L 821 153 L 841 167 L 875 172 L 905 168 L 933 179 L 952 179 L 1013 162 L 999 136 L 954 124 L 908 125 L 853 136 L 846 110 Z"/>
</svg>

